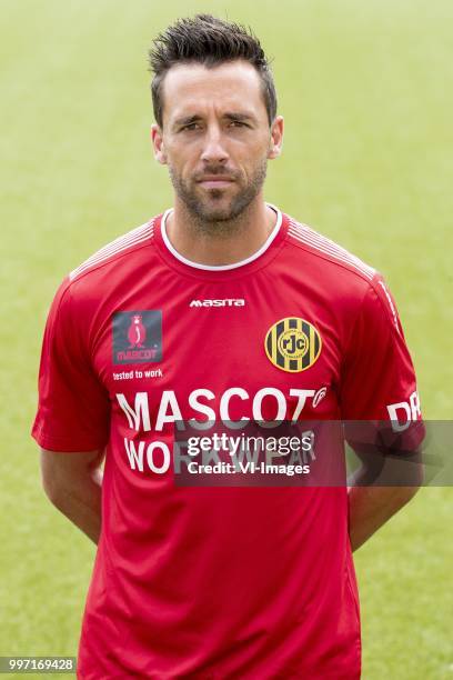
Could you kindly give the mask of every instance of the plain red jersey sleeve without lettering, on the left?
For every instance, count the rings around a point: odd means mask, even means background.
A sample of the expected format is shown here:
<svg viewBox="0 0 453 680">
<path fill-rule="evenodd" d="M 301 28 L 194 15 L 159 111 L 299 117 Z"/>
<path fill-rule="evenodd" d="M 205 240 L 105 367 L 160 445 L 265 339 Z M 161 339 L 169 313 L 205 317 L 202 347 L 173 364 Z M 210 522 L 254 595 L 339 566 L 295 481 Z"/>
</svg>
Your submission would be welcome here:
<svg viewBox="0 0 453 680">
<path fill-rule="evenodd" d="M 82 319 L 63 281 L 47 319 L 31 431 L 44 449 L 91 451 L 108 441 L 109 396 L 92 368 Z"/>
</svg>

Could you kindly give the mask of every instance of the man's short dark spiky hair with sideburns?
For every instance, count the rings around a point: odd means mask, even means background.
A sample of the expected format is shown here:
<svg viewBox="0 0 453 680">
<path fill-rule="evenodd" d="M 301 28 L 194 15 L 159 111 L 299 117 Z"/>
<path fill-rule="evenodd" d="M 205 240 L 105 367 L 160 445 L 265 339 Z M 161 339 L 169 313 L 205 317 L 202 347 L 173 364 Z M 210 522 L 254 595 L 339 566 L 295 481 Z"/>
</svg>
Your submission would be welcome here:
<svg viewBox="0 0 453 680">
<path fill-rule="evenodd" d="M 252 30 L 211 14 L 178 19 L 153 40 L 148 52 L 152 104 L 157 123 L 162 128 L 162 82 L 177 63 L 197 62 L 213 68 L 220 63 L 243 59 L 258 71 L 268 112 L 269 124 L 276 116 L 276 93 L 270 63 Z"/>
</svg>

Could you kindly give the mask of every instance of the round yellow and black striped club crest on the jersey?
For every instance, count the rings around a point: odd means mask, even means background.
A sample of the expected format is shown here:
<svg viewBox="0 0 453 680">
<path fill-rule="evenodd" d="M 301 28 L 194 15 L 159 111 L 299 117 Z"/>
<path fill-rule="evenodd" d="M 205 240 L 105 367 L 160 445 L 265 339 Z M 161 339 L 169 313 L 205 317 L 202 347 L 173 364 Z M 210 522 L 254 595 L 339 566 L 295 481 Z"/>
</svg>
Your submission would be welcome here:
<svg viewBox="0 0 453 680">
<path fill-rule="evenodd" d="M 290 373 L 305 371 L 313 366 L 321 347 L 321 336 L 314 326 L 298 317 L 281 319 L 271 326 L 264 340 L 268 359 Z"/>
</svg>

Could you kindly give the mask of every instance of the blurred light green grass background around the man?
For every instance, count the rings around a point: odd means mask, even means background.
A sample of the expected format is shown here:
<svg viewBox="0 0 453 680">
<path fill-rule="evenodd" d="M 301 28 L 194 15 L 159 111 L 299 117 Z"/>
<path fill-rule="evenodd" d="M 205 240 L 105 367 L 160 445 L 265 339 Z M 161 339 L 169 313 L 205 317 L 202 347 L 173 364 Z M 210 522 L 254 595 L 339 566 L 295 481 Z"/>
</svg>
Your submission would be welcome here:
<svg viewBox="0 0 453 680">
<path fill-rule="evenodd" d="M 29 436 L 47 310 L 73 267 L 171 206 L 147 50 L 197 11 L 251 24 L 285 117 L 266 199 L 380 269 L 424 414 L 452 417 L 451 0 L 1 0 L 0 654 L 77 652 L 94 546 L 47 500 Z M 453 677 L 452 490 L 356 553 L 363 678 Z"/>
</svg>

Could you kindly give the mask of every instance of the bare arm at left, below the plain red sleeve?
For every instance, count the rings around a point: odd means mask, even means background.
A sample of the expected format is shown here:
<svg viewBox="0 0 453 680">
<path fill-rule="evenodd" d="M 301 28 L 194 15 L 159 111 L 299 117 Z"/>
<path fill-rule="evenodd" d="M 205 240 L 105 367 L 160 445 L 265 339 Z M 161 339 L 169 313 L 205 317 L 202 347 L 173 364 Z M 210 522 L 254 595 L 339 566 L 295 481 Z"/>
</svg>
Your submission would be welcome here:
<svg viewBox="0 0 453 680">
<path fill-rule="evenodd" d="M 42 486 L 49 500 L 98 544 L 104 450 L 63 453 L 41 449 Z"/>
</svg>

